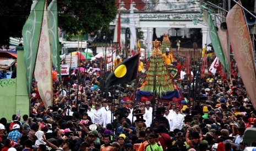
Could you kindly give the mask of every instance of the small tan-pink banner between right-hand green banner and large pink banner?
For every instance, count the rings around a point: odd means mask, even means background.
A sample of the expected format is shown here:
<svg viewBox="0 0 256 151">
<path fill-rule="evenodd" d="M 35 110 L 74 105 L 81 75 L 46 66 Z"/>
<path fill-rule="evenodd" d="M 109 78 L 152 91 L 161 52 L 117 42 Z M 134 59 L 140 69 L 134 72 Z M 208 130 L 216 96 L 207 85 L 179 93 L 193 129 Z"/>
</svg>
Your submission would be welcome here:
<svg viewBox="0 0 256 151">
<path fill-rule="evenodd" d="M 222 31 L 220 26 L 219 26 L 219 29 L 218 29 L 218 33 L 219 33 L 219 37 L 220 37 L 220 43 L 221 43 L 221 46 L 222 46 L 222 49 L 223 49 L 223 53 L 225 55 L 225 61 L 226 61 L 226 64 L 228 65 L 228 60 L 230 59 L 230 57 L 228 56 L 228 44 L 227 44 L 227 32 L 226 31 Z"/>
</svg>

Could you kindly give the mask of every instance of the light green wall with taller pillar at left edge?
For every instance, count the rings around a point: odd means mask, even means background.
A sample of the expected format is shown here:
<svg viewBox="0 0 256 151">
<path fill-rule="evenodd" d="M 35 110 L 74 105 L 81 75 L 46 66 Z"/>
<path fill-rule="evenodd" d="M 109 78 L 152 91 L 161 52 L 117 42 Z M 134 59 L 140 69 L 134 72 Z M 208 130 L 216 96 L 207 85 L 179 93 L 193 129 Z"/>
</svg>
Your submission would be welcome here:
<svg viewBox="0 0 256 151">
<path fill-rule="evenodd" d="M 0 80 L 0 118 L 12 120 L 13 114 L 29 114 L 26 68 L 23 47 L 17 47 L 17 78 Z"/>
</svg>

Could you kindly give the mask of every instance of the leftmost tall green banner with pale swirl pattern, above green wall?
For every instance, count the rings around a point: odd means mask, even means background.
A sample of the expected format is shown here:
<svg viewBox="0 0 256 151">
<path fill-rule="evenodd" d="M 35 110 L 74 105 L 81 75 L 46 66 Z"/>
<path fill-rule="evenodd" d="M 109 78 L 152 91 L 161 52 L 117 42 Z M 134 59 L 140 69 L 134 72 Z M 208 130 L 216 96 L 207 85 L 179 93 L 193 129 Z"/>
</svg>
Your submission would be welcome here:
<svg viewBox="0 0 256 151">
<path fill-rule="evenodd" d="M 22 30 L 26 65 L 26 84 L 29 95 L 31 92 L 33 72 L 35 69 L 37 49 L 39 46 L 39 37 L 43 18 L 42 10 L 44 7 L 45 1 L 33 1 L 29 18 L 26 20 Z"/>
</svg>

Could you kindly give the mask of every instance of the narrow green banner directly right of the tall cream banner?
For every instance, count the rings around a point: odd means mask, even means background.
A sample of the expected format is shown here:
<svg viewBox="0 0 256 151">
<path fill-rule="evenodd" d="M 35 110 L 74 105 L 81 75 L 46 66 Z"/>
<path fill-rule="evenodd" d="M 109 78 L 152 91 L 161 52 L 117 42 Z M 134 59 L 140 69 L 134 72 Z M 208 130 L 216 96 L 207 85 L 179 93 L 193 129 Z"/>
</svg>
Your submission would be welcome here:
<svg viewBox="0 0 256 151">
<path fill-rule="evenodd" d="M 57 14 L 57 0 L 52 0 L 48 7 L 49 21 L 50 21 L 50 36 L 51 36 L 51 50 L 52 50 L 52 64 L 61 75 L 61 67 L 59 63 L 59 34 L 58 34 L 58 14 Z"/>
</svg>

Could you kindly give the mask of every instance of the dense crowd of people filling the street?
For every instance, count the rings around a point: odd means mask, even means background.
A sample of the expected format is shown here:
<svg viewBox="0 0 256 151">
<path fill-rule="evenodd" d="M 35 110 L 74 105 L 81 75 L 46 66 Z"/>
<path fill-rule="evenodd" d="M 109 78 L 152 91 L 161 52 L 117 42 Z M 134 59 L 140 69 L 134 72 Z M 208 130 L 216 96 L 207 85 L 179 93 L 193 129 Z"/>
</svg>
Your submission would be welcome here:
<svg viewBox="0 0 256 151">
<path fill-rule="evenodd" d="M 147 97 L 135 100 L 138 88 L 134 83 L 105 90 L 101 86 L 104 74 L 92 71 L 100 62 L 84 62 L 85 72 L 74 69 L 70 77 L 55 82 L 50 107 L 43 105 L 35 80 L 30 114 L 14 114 L 11 122 L 0 119 L 1 150 L 256 148 L 256 142 L 243 142 L 246 129 L 254 127 L 256 111 L 236 69 L 231 79 L 217 73 L 200 77 L 195 101 L 188 98 L 193 86 L 182 74 L 175 79 L 180 98 L 162 102 Z"/>
</svg>

